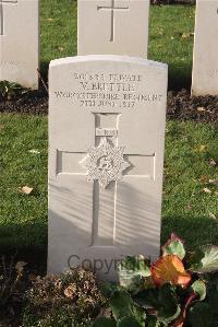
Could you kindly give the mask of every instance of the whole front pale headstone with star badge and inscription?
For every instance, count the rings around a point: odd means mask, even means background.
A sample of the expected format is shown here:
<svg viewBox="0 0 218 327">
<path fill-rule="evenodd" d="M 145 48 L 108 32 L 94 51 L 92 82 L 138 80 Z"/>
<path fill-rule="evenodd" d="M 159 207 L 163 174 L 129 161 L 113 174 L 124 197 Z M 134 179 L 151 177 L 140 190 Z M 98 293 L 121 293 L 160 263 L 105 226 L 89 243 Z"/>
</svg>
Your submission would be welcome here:
<svg viewBox="0 0 218 327">
<path fill-rule="evenodd" d="M 90 260 L 114 279 L 123 256 L 159 254 L 167 66 L 53 60 L 49 90 L 48 271 Z"/>
</svg>

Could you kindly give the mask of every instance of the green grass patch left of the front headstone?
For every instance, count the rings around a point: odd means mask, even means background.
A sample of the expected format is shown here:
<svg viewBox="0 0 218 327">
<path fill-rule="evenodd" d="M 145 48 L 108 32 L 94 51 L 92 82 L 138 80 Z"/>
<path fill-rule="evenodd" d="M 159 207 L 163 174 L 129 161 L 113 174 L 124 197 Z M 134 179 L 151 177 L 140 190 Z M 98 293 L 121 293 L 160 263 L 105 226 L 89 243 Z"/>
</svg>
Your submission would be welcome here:
<svg viewBox="0 0 218 327">
<path fill-rule="evenodd" d="M 0 129 L 0 247 L 45 246 L 47 118 L 1 115 Z M 22 194 L 23 186 L 33 192 Z"/>
</svg>

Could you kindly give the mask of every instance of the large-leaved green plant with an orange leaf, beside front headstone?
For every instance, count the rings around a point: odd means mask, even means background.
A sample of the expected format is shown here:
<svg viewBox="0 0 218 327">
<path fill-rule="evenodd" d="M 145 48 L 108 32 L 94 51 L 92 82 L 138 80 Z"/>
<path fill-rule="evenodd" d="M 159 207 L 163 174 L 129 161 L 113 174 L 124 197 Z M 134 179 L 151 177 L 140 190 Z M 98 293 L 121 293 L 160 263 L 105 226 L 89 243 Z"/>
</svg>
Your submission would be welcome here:
<svg viewBox="0 0 218 327">
<path fill-rule="evenodd" d="M 218 326 L 217 271 L 217 246 L 186 254 L 183 242 L 172 234 L 154 264 L 144 256 L 122 261 L 120 284 L 105 290 L 110 310 L 94 327 Z"/>
</svg>

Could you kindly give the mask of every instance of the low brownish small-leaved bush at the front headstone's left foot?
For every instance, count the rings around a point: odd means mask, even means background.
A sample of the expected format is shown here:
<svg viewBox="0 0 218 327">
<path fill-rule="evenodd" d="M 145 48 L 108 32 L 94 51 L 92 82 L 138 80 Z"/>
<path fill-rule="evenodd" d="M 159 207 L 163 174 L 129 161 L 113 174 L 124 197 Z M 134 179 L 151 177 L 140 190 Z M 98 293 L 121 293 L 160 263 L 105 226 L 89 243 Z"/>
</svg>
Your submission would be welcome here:
<svg viewBox="0 0 218 327">
<path fill-rule="evenodd" d="M 37 277 L 26 294 L 23 326 L 89 326 L 106 300 L 95 277 L 83 269 Z"/>
</svg>

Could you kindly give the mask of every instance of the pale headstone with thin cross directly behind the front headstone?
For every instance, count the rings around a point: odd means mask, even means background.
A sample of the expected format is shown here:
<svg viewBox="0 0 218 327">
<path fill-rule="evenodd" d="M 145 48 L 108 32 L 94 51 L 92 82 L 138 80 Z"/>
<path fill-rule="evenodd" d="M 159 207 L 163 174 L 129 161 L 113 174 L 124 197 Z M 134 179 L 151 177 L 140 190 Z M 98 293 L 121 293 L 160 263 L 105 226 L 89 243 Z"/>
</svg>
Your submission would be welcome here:
<svg viewBox="0 0 218 327">
<path fill-rule="evenodd" d="M 149 0 L 80 0 L 78 55 L 147 58 Z"/>
</svg>

